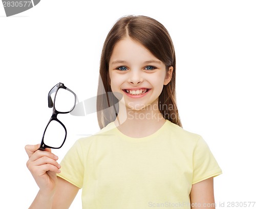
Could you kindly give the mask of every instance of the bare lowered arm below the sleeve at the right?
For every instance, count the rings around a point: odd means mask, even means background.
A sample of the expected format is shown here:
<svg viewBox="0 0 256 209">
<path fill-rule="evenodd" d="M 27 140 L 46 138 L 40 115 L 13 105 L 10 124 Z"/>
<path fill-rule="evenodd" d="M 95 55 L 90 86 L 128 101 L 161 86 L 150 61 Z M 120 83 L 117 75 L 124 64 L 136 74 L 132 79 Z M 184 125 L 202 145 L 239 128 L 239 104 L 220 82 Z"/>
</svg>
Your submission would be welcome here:
<svg viewBox="0 0 256 209">
<path fill-rule="evenodd" d="M 213 177 L 192 185 L 190 203 L 191 209 L 215 209 Z"/>
</svg>

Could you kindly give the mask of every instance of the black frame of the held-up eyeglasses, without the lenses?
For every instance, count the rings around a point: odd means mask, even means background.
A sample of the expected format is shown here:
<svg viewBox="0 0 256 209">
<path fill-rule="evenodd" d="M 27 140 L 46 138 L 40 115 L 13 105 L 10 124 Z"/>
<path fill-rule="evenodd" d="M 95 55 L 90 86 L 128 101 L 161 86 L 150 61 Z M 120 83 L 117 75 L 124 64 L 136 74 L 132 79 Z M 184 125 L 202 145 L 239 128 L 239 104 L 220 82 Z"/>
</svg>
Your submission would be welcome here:
<svg viewBox="0 0 256 209">
<path fill-rule="evenodd" d="M 70 111 L 61 112 L 61 111 L 58 111 L 58 110 L 55 109 L 55 99 L 56 99 L 57 92 L 58 92 L 58 90 L 59 90 L 60 88 L 64 88 L 64 89 L 70 91 L 70 92 L 75 96 L 75 103 L 74 103 L 74 106 L 71 108 Z M 52 101 L 51 95 L 52 95 L 54 92 L 56 92 L 56 93 L 55 93 L 55 96 L 54 96 L 54 100 Z M 41 144 L 40 144 L 39 150 L 45 150 L 46 148 L 59 149 L 59 148 L 61 148 L 61 147 L 63 146 L 63 144 L 65 143 L 66 138 L 67 138 L 67 129 L 66 129 L 65 125 L 64 125 L 63 123 L 61 123 L 61 121 L 59 121 L 59 120 L 57 119 L 57 115 L 58 115 L 59 113 L 61 113 L 61 114 L 66 114 L 66 113 L 71 112 L 71 111 L 75 108 L 75 105 L 76 105 L 76 94 L 75 94 L 72 90 L 70 90 L 69 88 L 67 88 L 63 83 L 58 83 L 58 84 L 56 84 L 56 85 L 49 91 L 49 94 L 48 94 L 48 107 L 49 107 L 49 108 L 53 108 L 53 111 L 52 111 L 52 116 L 51 116 L 51 118 L 50 118 L 50 120 L 49 120 L 49 122 L 48 122 L 48 124 L 47 124 L 47 126 L 46 126 L 46 128 L 45 128 L 44 134 L 42 135 L 42 140 L 41 140 Z M 51 121 L 56 121 L 56 122 L 58 122 L 58 123 L 65 129 L 65 138 L 64 138 L 62 144 L 61 144 L 59 147 L 51 147 L 51 146 L 48 146 L 48 145 L 46 145 L 46 144 L 44 143 L 45 133 L 46 133 L 46 130 L 47 130 L 49 124 L 51 123 Z"/>
</svg>

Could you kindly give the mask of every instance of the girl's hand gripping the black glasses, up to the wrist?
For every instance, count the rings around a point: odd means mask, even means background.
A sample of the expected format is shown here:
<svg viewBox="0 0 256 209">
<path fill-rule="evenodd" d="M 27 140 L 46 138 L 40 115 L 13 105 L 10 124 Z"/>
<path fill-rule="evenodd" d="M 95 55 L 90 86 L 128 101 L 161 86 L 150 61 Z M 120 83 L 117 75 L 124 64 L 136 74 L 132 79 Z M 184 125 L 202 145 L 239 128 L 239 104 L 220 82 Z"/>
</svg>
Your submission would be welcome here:
<svg viewBox="0 0 256 209">
<path fill-rule="evenodd" d="M 26 145 L 25 150 L 29 156 L 27 167 L 34 177 L 40 192 L 45 195 L 53 195 L 56 189 L 57 176 L 60 173 L 60 165 L 56 161 L 58 157 L 51 152 L 38 150 L 38 145 Z"/>
</svg>

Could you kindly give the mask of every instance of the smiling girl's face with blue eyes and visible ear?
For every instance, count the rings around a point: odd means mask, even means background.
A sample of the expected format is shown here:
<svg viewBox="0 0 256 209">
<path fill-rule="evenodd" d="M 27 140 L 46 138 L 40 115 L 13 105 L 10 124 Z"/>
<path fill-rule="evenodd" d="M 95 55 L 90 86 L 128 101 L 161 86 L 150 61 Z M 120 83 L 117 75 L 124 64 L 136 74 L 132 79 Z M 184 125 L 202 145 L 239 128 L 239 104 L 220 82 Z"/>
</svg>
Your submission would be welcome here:
<svg viewBox="0 0 256 209">
<path fill-rule="evenodd" d="M 172 66 L 166 71 L 165 64 L 141 43 L 125 37 L 117 42 L 110 58 L 111 89 L 123 95 L 130 109 L 140 110 L 150 104 L 158 109 L 158 97 L 172 71 Z"/>
</svg>

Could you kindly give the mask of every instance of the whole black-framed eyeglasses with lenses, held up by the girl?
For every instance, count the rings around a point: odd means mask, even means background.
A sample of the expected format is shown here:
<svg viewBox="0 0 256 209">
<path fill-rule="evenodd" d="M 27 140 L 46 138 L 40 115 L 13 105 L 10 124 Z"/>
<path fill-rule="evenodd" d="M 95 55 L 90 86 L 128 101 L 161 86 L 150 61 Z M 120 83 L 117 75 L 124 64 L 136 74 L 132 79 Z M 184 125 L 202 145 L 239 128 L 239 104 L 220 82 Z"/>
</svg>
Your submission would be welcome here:
<svg viewBox="0 0 256 209">
<path fill-rule="evenodd" d="M 52 98 L 54 98 L 52 100 Z M 75 93 L 67 88 L 63 83 L 55 85 L 48 94 L 48 107 L 53 108 L 52 117 L 48 122 L 39 150 L 46 148 L 59 149 L 63 146 L 67 137 L 67 129 L 63 123 L 57 119 L 59 113 L 71 112 L 76 105 Z"/>
</svg>

